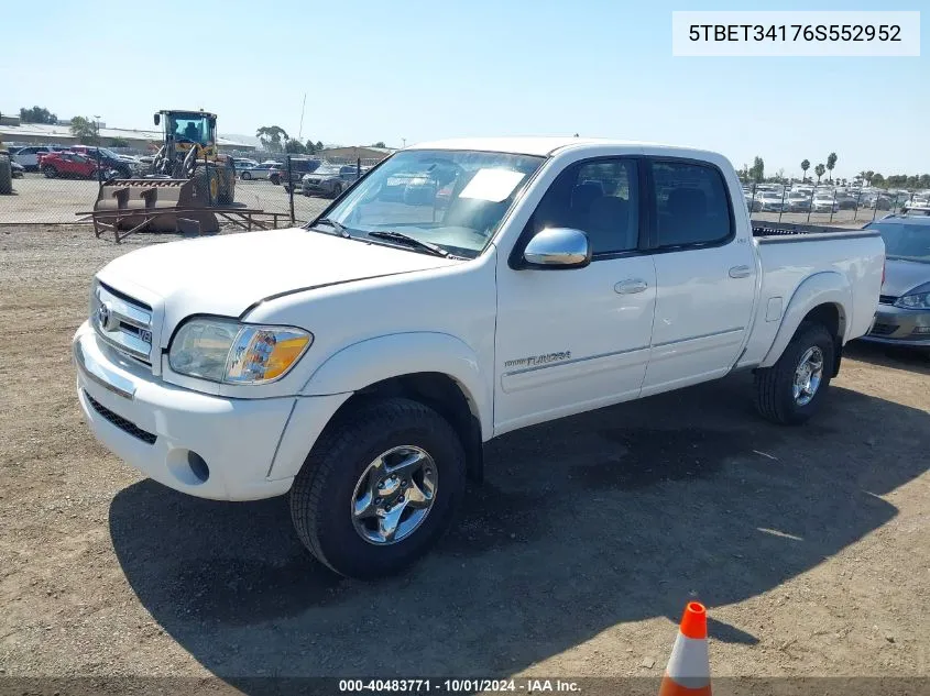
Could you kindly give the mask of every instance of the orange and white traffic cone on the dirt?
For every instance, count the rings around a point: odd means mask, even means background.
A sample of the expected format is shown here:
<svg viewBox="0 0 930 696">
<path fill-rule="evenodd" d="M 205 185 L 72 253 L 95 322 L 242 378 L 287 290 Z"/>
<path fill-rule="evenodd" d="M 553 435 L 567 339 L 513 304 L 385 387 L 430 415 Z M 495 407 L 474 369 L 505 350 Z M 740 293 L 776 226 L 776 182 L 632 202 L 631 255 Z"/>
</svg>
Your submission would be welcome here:
<svg viewBox="0 0 930 696">
<path fill-rule="evenodd" d="M 659 696 L 711 696 L 708 612 L 700 603 L 689 601 L 685 607 Z"/>
</svg>

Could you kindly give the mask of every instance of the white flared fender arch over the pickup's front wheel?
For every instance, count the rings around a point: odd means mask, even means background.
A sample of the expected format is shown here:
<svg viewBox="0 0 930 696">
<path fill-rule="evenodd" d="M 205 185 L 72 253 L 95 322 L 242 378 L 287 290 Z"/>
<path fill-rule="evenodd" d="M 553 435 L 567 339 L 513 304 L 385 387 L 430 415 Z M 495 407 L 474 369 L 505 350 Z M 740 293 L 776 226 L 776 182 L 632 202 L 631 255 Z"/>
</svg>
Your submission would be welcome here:
<svg viewBox="0 0 930 696">
<path fill-rule="evenodd" d="M 494 416 L 491 385 L 471 346 L 448 333 L 393 333 L 346 346 L 316 368 L 302 394 L 358 391 L 391 377 L 420 372 L 442 373 L 455 379 L 481 422 L 482 439 L 490 437 Z"/>
</svg>

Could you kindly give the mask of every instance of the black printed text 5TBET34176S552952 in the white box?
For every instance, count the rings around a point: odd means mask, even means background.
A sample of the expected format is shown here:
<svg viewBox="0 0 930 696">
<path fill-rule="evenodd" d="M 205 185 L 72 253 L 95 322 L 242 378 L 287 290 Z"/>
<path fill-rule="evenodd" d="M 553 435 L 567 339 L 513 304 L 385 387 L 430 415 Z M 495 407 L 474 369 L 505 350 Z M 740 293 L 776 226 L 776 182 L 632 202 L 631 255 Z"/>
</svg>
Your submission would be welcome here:
<svg viewBox="0 0 930 696">
<path fill-rule="evenodd" d="M 690 41 L 900 42 L 897 24 L 691 24 Z"/>
</svg>

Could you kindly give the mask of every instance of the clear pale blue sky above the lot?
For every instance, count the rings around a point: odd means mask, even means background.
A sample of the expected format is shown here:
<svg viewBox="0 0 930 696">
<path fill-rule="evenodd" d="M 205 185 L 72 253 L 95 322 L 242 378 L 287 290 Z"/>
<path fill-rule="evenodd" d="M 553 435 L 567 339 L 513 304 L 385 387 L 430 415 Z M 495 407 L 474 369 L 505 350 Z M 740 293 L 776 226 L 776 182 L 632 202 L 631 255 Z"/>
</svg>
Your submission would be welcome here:
<svg viewBox="0 0 930 696">
<path fill-rule="evenodd" d="M 830 152 L 839 177 L 930 172 L 930 12 L 921 16 L 920 57 L 672 57 L 671 12 L 682 9 L 930 7 L 9 2 L 0 113 L 37 104 L 62 119 L 100 115 L 110 128 L 151 128 L 158 109 L 203 108 L 218 114 L 221 134 L 280 125 L 327 144 L 580 133 L 714 150 L 736 167 L 759 155 L 767 175 L 800 176 L 801 159 L 813 165 Z M 43 26 L 56 31 L 30 31 Z"/>
</svg>

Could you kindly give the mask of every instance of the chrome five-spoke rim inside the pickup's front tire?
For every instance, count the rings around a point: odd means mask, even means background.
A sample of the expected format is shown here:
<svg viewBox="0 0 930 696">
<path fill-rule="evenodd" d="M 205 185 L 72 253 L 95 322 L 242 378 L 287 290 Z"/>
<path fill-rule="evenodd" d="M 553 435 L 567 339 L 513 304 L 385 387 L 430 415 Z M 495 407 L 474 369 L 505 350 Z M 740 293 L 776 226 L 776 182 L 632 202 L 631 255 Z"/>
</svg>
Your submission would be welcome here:
<svg viewBox="0 0 930 696">
<path fill-rule="evenodd" d="M 433 457 L 414 445 L 380 454 L 362 472 L 352 494 L 352 524 L 373 544 L 409 537 L 429 515 L 439 479 Z"/>
</svg>

